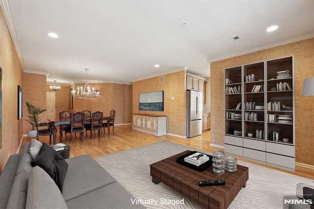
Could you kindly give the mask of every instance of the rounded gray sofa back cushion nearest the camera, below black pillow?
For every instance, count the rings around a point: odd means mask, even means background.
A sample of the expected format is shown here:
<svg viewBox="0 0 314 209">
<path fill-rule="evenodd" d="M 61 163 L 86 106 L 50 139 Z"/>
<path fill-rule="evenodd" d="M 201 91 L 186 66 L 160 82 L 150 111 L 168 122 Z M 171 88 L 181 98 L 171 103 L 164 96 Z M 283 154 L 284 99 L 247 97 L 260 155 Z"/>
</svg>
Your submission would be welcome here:
<svg viewBox="0 0 314 209">
<path fill-rule="evenodd" d="M 31 169 L 28 181 L 26 209 L 67 209 L 62 194 L 52 178 L 42 168 Z"/>
</svg>

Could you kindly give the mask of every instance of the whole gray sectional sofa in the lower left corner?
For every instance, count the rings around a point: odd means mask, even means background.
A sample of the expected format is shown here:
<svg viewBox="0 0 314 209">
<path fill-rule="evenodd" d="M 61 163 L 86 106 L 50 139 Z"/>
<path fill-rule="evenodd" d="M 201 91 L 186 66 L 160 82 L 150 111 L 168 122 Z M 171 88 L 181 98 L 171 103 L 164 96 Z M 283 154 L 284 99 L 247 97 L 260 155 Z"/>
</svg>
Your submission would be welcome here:
<svg viewBox="0 0 314 209">
<path fill-rule="evenodd" d="M 30 143 L 9 157 L 0 176 L 0 209 L 141 209 L 134 199 L 92 157 L 66 159 L 62 193 L 42 168 L 31 166 Z"/>
</svg>

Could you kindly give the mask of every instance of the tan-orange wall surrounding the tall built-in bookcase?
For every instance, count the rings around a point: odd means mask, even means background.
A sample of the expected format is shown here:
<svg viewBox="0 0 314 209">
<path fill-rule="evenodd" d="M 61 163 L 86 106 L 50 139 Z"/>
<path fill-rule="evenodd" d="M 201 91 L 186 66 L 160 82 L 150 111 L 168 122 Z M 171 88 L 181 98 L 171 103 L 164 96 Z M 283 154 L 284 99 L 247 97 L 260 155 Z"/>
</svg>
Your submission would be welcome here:
<svg viewBox="0 0 314 209">
<path fill-rule="evenodd" d="M 294 55 L 296 162 L 314 165 L 314 97 L 302 96 L 303 80 L 314 77 L 314 38 L 210 64 L 211 143 L 224 145 L 224 69 Z"/>
</svg>

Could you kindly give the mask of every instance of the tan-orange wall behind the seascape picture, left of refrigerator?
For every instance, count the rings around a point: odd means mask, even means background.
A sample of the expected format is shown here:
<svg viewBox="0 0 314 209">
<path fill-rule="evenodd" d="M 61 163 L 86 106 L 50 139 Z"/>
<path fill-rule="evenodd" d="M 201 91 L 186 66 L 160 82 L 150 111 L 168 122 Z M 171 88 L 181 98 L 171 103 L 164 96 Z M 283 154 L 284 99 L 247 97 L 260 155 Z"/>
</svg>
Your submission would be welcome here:
<svg viewBox="0 0 314 209">
<path fill-rule="evenodd" d="M 133 114 L 165 115 L 168 119 L 168 133 L 186 136 L 186 90 L 185 72 L 164 75 L 165 82 L 159 83 L 159 77 L 133 82 Z M 164 111 L 139 110 L 139 93 L 162 91 Z M 171 97 L 175 101 L 171 101 Z"/>
</svg>

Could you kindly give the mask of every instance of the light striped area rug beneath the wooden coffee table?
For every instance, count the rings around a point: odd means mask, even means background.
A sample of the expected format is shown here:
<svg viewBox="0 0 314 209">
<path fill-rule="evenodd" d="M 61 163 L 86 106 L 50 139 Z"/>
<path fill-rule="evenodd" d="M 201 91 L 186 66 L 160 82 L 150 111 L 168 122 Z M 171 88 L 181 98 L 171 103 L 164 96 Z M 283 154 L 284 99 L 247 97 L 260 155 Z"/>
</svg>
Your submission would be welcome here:
<svg viewBox="0 0 314 209">
<path fill-rule="evenodd" d="M 131 150 L 95 158 L 148 209 L 201 209 L 179 192 L 163 183 L 155 184 L 150 176 L 150 164 L 185 150 L 195 148 L 161 141 Z M 206 154 L 211 154 L 201 151 Z M 249 180 L 229 206 L 229 209 L 283 208 L 284 197 L 296 196 L 296 184 L 313 185 L 313 180 L 273 170 L 252 163 L 238 161 L 249 168 Z"/>
</svg>

